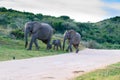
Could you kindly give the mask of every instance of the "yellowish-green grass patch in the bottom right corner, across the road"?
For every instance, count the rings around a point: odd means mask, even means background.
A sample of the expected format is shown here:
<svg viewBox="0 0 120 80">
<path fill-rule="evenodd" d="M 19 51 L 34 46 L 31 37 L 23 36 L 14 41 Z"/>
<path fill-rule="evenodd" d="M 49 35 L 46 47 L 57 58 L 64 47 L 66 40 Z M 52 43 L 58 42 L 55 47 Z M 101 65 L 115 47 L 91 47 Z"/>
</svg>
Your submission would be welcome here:
<svg viewBox="0 0 120 80">
<path fill-rule="evenodd" d="M 86 73 L 74 80 L 120 80 L 120 62 L 110 65 L 105 69 Z"/>
</svg>

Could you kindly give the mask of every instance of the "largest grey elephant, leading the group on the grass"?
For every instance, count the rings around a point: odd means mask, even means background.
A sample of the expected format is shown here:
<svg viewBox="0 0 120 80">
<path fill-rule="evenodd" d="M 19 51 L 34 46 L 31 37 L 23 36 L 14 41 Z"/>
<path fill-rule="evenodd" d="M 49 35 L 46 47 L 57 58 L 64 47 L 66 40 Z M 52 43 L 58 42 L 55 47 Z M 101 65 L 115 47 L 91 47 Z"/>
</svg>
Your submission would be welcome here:
<svg viewBox="0 0 120 80">
<path fill-rule="evenodd" d="M 39 49 L 37 39 L 41 40 L 45 44 L 47 44 L 47 49 L 51 48 L 51 37 L 53 34 L 53 28 L 47 23 L 40 23 L 38 21 L 31 21 L 25 24 L 25 48 L 28 45 L 28 34 L 31 34 L 31 41 L 28 47 L 28 50 L 32 49 L 32 44 L 34 43 L 36 49 Z"/>
</svg>

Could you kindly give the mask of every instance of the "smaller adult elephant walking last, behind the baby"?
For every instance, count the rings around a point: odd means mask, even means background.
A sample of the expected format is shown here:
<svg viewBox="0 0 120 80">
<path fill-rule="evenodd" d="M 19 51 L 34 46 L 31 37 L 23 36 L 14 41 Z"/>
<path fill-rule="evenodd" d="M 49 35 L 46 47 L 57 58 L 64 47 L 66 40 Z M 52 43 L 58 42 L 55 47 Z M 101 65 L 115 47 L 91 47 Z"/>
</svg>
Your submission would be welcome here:
<svg viewBox="0 0 120 80">
<path fill-rule="evenodd" d="M 66 51 L 69 51 L 72 52 L 72 45 L 76 48 L 76 53 L 78 53 L 79 51 L 79 43 L 80 43 L 80 40 L 81 40 L 81 35 L 74 31 L 74 30 L 68 30 L 64 33 L 64 42 L 63 42 L 63 50 L 64 50 L 64 47 L 65 47 L 65 41 L 68 40 L 69 42 L 69 45 L 66 49 Z"/>
</svg>

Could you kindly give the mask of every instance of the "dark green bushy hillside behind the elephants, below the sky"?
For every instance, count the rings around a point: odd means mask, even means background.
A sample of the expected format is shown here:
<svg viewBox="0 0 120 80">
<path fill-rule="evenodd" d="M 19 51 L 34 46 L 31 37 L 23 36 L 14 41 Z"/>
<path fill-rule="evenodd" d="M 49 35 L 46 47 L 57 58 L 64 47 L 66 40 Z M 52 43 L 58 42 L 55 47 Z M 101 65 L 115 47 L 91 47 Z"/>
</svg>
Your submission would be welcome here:
<svg viewBox="0 0 120 80">
<path fill-rule="evenodd" d="M 34 20 L 49 23 L 54 28 L 55 33 L 63 34 L 68 29 L 76 30 L 82 35 L 82 44 L 87 47 L 120 49 L 119 16 L 97 23 L 81 23 L 75 22 L 66 15 L 54 17 L 2 7 L 0 8 L 0 35 L 9 36 L 12 33 L 16 38 L 23 39 L 24 24 Z"/>
</svg>

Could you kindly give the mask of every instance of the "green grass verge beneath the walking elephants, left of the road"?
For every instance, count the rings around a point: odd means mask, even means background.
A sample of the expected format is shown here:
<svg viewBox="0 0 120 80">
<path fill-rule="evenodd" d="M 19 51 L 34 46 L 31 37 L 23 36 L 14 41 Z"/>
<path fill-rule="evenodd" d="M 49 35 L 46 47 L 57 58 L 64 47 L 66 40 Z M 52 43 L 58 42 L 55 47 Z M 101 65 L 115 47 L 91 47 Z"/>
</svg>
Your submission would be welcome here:
<svg viewBox="0 0 120 80">
<path fill-rule="evenodd" d="M 65 53 L 62 50 L 46 50 L 46 45 L 39 42 L 40 49 L 35 50 L 33 45 L 32 50 L 28 51 L 24 48 L 24 40 L 13 40 L 7 37 L 0 36 L 0 61 L 16 59 L 25 59 L 31 57 L 48 56 Z"/>
</svg>

